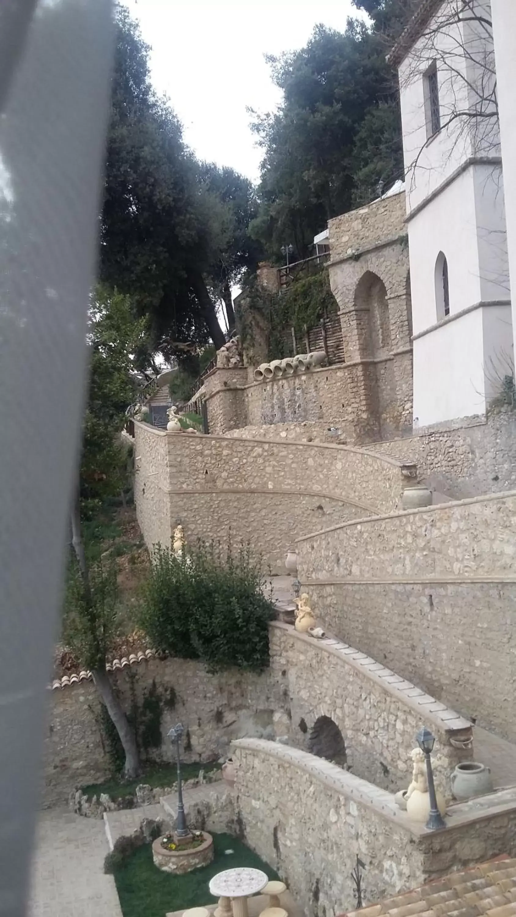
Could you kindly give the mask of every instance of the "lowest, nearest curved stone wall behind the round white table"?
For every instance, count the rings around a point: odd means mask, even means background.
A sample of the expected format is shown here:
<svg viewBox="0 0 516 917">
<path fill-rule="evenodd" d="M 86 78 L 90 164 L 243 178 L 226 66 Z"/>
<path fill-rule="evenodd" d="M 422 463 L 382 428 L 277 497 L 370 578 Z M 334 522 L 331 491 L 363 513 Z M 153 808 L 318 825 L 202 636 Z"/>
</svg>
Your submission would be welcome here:
<svg viewBox="0 0 516 917">
<path fill-rule="evenodd" d="M 233 757 L 247 844 L 314 917 L 356 907 L 351 872 L 357 856 L 365 865 L 368 904 L 516 849 L 514 801 L 493 801 L 494 808 L 481 813 L 456 807 L 446 831 L 429 833 L 397 809 L 386 790 L 306 752 L 243 739 L 234 743 Z"/>
</svg>

